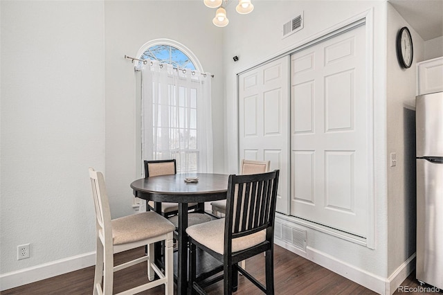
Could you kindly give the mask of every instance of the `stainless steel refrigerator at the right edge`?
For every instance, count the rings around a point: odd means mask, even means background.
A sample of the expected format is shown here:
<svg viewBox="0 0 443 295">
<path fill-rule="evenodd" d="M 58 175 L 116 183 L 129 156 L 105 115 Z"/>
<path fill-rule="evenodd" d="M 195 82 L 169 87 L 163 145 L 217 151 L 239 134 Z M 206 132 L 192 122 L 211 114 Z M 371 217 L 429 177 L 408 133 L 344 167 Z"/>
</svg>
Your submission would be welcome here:
<svg viewBox="0 0 443 295">
<path fill-rule="evenodd" d="M 415 110 L 416 277 L 443 289 L 443 92 L 417 96 Z"/>
</svg>

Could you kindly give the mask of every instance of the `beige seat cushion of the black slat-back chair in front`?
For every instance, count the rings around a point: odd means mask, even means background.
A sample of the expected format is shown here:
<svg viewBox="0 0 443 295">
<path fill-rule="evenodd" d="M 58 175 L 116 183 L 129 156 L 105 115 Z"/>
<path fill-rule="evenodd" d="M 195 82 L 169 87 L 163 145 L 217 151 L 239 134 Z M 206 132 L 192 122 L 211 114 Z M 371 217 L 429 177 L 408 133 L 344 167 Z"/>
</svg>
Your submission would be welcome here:
<svg viewBox="0 0 443 295">
<path fill-rule="evenodd" d="M 197 224 L 188 227 L 186 233 L 188 235 L 203 244 L 204 246 L 212 249 L 213 251 L 223 254 L 224 253 L 224 223 L 225 219 L 212 220 L 202 224 Z M 244 249 L 251 248 L 266 240 L 266 232 L 259 231 L 251 235 L 246 235 L 241 238 L 233 239 L 233 252 L 242 251 Z"/>
</svg>

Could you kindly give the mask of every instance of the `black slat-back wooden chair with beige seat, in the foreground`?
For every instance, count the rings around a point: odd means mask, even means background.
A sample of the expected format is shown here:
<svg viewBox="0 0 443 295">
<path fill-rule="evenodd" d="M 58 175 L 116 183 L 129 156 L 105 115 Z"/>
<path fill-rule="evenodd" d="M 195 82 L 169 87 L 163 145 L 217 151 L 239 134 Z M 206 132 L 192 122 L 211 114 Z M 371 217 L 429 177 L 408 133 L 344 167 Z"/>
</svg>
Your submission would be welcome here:
<svg viewBox="0 0 443 295">
<path fill-rule="evenodd" d="M 224 280 L 224 294 L 232 294 L 237 290 L 238 272 L 265 294 L 274 294 L 273 233 L 279 173 L 274 170 L 256 175 L 230 175 L 226 218 L 186 229 L 190 251 L 190 294 L 206 294 L 204 288 L 219 280 Z M 223 265 L 197 278 L 199 249 Z M 266 286 L 238 265 L 258 253 L 266 253 Z M 214 278 L 216 271 L 223 271 L 223 274 Z"/>
</svg>

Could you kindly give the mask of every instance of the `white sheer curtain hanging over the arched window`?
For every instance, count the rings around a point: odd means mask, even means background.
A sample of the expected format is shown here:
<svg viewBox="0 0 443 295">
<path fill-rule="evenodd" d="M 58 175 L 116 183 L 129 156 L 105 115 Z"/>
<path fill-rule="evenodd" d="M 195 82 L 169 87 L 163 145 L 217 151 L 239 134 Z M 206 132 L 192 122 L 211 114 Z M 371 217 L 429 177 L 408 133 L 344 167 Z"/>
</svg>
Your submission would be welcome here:
<svg viewBox="0 0 443 295">
<path fill-rule="evenodd" d="M 213 172 L 209 73 L 153 61 L 142 69 L 143 160 L 176 159 L 179 172 Z"/>
</svg>

